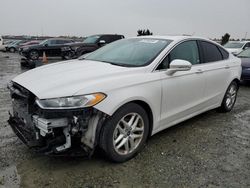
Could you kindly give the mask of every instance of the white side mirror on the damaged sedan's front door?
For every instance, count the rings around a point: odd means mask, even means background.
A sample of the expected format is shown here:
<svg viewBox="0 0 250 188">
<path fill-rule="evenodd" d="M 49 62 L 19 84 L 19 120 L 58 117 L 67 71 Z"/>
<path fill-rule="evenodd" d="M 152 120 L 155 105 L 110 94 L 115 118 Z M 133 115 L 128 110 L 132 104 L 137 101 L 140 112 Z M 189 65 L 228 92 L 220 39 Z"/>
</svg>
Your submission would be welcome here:
<svg viewBox="0 0 250 188">
<path fill-rule="evenodd" d="M 177 71 L 189 71 L 192 67 L 192 64 L 189 61 L 175 59 L 173 60 L 170 65 L 169 69 L 167 70 L 168 75 L 172 75 Z"/>
</svg>

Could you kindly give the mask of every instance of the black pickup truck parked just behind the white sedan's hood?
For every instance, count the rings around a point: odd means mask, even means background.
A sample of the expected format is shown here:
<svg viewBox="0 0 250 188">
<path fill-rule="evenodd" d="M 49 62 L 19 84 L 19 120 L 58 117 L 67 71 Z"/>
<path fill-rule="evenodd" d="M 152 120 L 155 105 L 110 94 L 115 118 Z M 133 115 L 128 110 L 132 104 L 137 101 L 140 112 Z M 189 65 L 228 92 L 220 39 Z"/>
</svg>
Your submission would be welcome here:
<svg viewBox="0 0 250 188">
<path fill-rule="evenodd" d="M 69 44 L 68 46 L 63 47 L 63 58 L 78 58 L 83 54 L 93 52 L 106 44 L 123 38 L 123 35 L 117 34 L 92 35 L 87 37 L 82 43 Z"/>
</svg>

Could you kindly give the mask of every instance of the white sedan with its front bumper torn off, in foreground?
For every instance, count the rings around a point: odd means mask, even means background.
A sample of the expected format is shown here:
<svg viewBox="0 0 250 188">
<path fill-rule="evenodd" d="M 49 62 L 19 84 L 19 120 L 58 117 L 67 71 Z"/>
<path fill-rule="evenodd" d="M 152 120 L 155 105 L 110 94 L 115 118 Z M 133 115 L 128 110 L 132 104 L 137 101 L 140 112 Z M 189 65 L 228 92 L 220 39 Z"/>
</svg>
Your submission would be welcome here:
<svg viewBox="0 0 250 188">
<path fill-rule="evenodd" d="M 123 39 L 14 78 L 9 124 L 38 152 L 92 154 L 99 146 L 123 162 L 161 130 L 211 109 L 231 111 L 240 76 L 240 59 L 207 39 Z"/>
</svg>

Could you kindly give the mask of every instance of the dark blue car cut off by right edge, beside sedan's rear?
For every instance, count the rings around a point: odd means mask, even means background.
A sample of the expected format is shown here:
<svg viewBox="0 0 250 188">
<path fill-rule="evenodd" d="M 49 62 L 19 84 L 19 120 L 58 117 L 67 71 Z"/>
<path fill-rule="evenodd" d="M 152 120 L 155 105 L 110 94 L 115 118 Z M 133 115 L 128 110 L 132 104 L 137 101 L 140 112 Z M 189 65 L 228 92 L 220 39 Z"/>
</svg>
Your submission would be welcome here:
<svg viewBox="0 0 250 188">
<path fill-rule="evenodd" d="M 250 81 L 250 48 L 238 54 L 241 59 L 242 74 L 241 80 Z"/>
</svg>

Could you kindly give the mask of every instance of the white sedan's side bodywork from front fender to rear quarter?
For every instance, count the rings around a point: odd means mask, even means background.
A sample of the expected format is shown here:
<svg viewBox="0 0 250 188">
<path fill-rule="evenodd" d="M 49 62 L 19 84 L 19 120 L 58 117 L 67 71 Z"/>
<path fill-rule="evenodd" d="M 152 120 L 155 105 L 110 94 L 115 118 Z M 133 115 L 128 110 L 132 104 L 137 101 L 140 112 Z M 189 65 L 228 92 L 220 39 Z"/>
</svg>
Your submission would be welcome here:
<svg viewBox="0 0 250 188">
<path fill-rule="evenodd" d="M 181 41 L 178 41 L 177 44 L 179 43 Z M 157 65 L 174 46 L 174 44 L 168 46 L 153 64 Z M 174 75 L 167 75 L 166 71 L 153 71 L 152 74 L 157 76 L 152 76 L 152 78 L 158 79 L 158 75 L 161 78 L 161 95 L 159 95 L 160 88 L 156 95 L 156 88 L 148 84 L 152 82 L 145 82 L 142 84 L 141 92 L 137 90 L 140 85 L 124 88 L 121 90 L 122 92 L 120 89 L 114 90 L 111 98 L 115 101 L 110 98 L 110 101 L 105 100 L 95 107 L 112 115 L 122 105 L 133 100 L 142 100 L 148 103 L 152 109 L 154 117 L 152 134 L 155 134 L 197 114 L 219 107 L 229 84 L 234 79 L 240 80 L 240 72 L 240 60 L 233 55 L 223 61 L 194 65 L 190 71 L 176 72 Z M 145 78 L 149 78 L 149 75 L 147 73 Z M 131 80 L 131 82 L 133 81 Z M 137 97 L 134 97 L 135 93 L 138 94 Z M 148 93 L 152 95 L 150 96 Z M 123 97 L 118 97 L 120 95 Z M 152 96 L 158 96 L 160 100 L 151 98 Z M 159 105 L 161 106 L 160 114 Z"/>
</svg>

